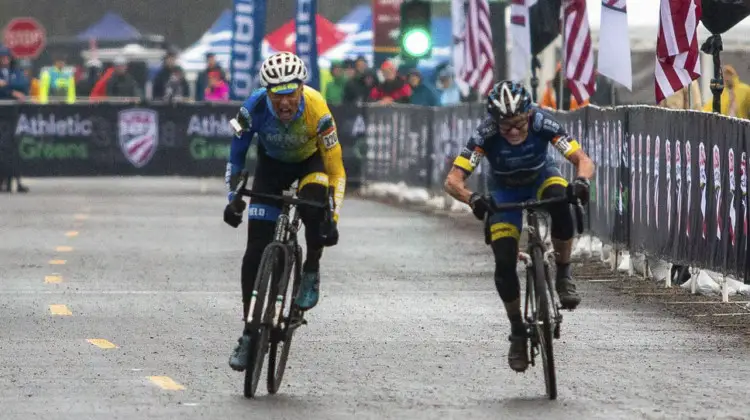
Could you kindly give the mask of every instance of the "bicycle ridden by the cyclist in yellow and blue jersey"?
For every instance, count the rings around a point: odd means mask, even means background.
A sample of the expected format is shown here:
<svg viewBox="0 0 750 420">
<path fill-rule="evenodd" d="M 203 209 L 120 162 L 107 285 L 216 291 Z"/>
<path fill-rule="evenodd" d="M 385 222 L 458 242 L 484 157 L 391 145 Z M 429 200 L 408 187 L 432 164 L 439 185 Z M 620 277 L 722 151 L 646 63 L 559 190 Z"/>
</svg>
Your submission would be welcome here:
<svg viewBox="0 0 750 420">
<path fill-rule="evenodd" d="M 330 222 L 333 214 L 333 192 L 329 190 L 328 203 L 297 198 L 296 183 L 282 195 L 259 193 L 246 188 L 248 178 L 249 173 L 243 171 L 232 199 L 235 208 L 242 197 L 262 197 L 283 203 L 281 214 L 276 220 L 274 239 L 263 250 L 253 284 L 248 317 L 245 320 L 249 327 L 247 330 L 251 331 L 251 334 L 244 395 L 245 398 L 253 398 L 258 389 L 266 353 L 266 388 L 269 394 L 275 394 L 279 390 L 291 349 L 292 336 L 297 328 L 307 324 L 304 311 L 295 303 L 302 281 L 303 262 L 302 247 L 297 240 L 302 223 L 297 207 L 324 209 L 324 223 Z M 292 274 L 294 280 L 289 293 L 289 279 Z"/>
</svg>

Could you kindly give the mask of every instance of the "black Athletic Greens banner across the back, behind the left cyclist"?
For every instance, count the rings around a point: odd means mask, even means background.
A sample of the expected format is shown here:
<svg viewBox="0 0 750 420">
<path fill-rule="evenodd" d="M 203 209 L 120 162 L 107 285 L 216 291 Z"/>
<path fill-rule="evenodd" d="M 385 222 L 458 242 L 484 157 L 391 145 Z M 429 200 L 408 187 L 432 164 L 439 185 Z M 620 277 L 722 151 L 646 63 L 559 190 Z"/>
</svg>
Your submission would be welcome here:
<svg viewBox="0 0 750 420">
<path fill-rule="evenodd" d="M 238 104 L 0 106 L 0 175 L 224 176 Z M 332 107 L 347 174 L 362 182 L 363 109 Z M 247 156 L 252 170 L 255 142 Z"/>
</svg>

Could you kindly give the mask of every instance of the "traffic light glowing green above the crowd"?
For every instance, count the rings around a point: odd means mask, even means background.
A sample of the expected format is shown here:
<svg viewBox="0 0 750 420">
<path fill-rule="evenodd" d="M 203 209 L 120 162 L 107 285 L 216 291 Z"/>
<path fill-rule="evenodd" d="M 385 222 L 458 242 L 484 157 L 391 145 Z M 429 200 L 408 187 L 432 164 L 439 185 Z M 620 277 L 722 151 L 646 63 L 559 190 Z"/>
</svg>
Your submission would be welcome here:
<svg viewBox="0 0 750 420">
<path fill-rule="evenodd" d="M 404 0 L 401 3 L 401 34 L 399 44 L 401 56 L 406 59 L 421 59 L 432 56 L 430 2 Z"/>
</svg>

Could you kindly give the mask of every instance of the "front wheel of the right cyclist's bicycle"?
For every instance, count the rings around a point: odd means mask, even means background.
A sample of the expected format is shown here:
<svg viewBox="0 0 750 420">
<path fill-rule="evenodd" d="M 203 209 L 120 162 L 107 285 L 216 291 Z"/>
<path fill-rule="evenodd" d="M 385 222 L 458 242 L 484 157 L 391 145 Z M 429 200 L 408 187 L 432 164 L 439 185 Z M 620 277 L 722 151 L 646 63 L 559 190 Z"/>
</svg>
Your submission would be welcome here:
<svg viewBox="0 0 750 420">
<path fill-rule="evenodd" d="M 539 347 L 542 353 L 542 366 L 544 367 L 544 383 L 547 388 L 549 399 L 557 399 L 557 376 L 555 374 L 555 355 L 552 348 L 552 319 L 550 315 L 550 302 L 553 302 L 547 287 L 547 270 L 542 248 L 534 246 L 531 254 L 534 265 L 534 292 L 536 295 L 537 329 Z"/>
</svg>

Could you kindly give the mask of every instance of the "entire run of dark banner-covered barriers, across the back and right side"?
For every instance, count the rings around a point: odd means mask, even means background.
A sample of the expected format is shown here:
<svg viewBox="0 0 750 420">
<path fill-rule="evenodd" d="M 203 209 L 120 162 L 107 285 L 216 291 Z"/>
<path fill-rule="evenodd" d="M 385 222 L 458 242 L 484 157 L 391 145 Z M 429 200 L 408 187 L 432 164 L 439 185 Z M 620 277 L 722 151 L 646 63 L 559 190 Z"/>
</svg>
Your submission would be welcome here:
<svg viewBox="0 0 750 420">
<path fill-rule="evenodd" d="M 0 166 L 22 176 L 223 176 L 239 103 L 0 106 Z M 452 107 L 331 107 L 349 183 L 442 193 L 485 114 Z M 556 113 L 597 165 L 587 228 L 605 243 L 746 279 L 750 121 L 648 106 Z M 555 153 L 558 156 L 557 153 Z M 563 172 L 572 166 L 560 156 Z M 248 155 L 253 168 L 255 152 Z M 486 190 L 487 164 L 470 178 Z"/>
</svg>

